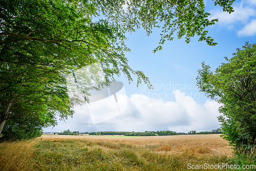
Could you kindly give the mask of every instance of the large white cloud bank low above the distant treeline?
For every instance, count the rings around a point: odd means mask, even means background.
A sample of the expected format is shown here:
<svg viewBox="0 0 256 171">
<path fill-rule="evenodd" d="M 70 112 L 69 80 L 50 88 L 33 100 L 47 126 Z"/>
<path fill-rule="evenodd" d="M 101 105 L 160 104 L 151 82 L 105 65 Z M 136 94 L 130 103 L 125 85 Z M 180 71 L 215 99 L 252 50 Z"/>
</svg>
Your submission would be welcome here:
<svg viewBox="0 0 256 171">
<path fill-rule="evenodd" d="M 75 109 L 73 118 L 44 132 L 60 132 L 64 130 L 79 132 L 96 131 L 176 131 L 188 132 L 211 131 L 220 127 L 217 116 L 220 104 L 207 100 L 203 105 L 197 103 L 185 93 L 176 90 L 173 92 L 176 102 L 164 102 L 142 94 L 133 94 L 127 98 L 128 108 L 121 115 L 108 121 L 92 124 L 87 106 Z M 104 111 L 101 111 L 104 113 Z"/>
</svg>

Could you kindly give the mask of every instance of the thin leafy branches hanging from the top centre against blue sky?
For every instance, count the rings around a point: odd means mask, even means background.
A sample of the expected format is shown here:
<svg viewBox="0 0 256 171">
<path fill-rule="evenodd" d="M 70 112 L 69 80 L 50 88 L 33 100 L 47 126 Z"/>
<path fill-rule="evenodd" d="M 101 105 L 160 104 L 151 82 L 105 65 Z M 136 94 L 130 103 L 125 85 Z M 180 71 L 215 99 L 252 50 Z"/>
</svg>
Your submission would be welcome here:
<svg viewBox="0 0 256 171">
<path fill-rule="evenodd" d="M 223 7 L 223 11 L 233 12 L 231 7 L 233 0 L 212 0 L 215 5 Z M 214 25 L 218 19 L 208 20 L 210 13 L 205 12 L 203 0 L 121 0 L 104 1 L 97 0 L 101 12 L 110 20 L 120 23 L 126 30 L 134 31 L 142 27 L 147 35 L 152 33 L 153 28 L 161 28 L 162 33 L 159 45 L 154 53 L 162 49 L 166 40 L 173 40 L 173 34 L 177 37 L 185 36 L 185 41 L 190 42 L 190 37 L 199 36 L 198 41 L 206 41 L 210 46 L 217 45 L 205 27 Z M 103 8 L 102 8 L 103 7 Z M 124 9 L 125 8 L 125 9 Z"/>
</svg>

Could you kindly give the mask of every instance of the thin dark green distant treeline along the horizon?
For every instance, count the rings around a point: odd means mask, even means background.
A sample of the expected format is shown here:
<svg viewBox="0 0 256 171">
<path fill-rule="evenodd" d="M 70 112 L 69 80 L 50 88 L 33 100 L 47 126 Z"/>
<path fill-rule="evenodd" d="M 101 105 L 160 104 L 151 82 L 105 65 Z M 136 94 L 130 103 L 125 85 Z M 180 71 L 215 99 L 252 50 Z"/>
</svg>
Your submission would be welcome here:
<svg viewBox="0 0 256 171">
<path fill-rule="evenodd" d="M 222 134 L 220 129 L 212 131 L 203 131 L 197 133 L 196 131 L 189 131 L 188 133 L 177 133 L 174 131 L 145 131 L 145 132 L 113 132 L 113 131 L 102 131 L 102 132 L 85 132 L 79 133 L 78 131 L 70 132 L 69 130 L 57 133 L 58 135 L 124 135 L 124 136 L 165 136 L 165 135 L 193 135 L 193 134 Z"/>
</svg>

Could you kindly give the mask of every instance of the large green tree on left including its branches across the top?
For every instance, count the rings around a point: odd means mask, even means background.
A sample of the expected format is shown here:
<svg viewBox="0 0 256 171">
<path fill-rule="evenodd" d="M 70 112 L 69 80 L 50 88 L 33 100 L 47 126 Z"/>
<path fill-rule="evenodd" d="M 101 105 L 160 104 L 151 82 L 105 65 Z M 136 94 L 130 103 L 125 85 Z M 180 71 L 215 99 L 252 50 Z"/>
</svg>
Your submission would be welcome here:
<svg viewBox="0 0 256 171">
<path fill-rule="evenodd" d="M 233 11 L 232 2 L 215 0 L 229 13 Z M 22 115 L 44 116 L 49 112 L 62 119 L 72 116 L 67 75 L 95 62 L 101 64 L 107 81 L 123 73 L 129 82 L 135 75 L 137 85 L 144 82 L 151 88 L 143 72 L 127 64 L 124 52 L 130 49 L 124 45 L 126 31 L 142 26 L 150 35 L 164 22 L 155 51 L 161 49 L 165 39 L 172 40 L 176 31 L 178 38 L 186 36 L 186 42 L 197 34 L 200 41 L 216 45 L 206 37 L 204 28 L 217 19 L 207 19 L 209 13 L 201 0 L 3 0 L 0 9 L 0 134 L 8 119 L 19 122 L 26 118 Z M 92 22 L 99 12 L 106 19 Z M 20 108 L 23 110 L 17 110 Z M 37 109 L 44 109 L 43 114 Z M 56 124 L 54 120 L 49 122 Z"/>
</svg>

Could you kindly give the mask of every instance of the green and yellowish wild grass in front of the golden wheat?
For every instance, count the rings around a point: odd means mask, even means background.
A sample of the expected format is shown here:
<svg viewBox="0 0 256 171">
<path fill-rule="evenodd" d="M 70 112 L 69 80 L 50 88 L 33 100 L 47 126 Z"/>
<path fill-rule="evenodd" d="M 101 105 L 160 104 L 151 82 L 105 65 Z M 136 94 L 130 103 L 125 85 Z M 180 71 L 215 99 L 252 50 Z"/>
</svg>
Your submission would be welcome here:
<svg viewBox="0 0 256 171">
<path fill-rule="evenodd" d="M 131 143 L 132 139 L 127 142 L 110 141 L 115 140 L 36 138 L 4 142 L 0 144 L 0 170 L 187 170 L 188 163 L 255 163 L 252 152 L 247 158 L 244 157 L 248 154 L 239 157 L 214 155 L 211 154 L 211 145 L 194 144 L 173 153 L 172 150 L 177 148 L 172 145 L 174 142 L 168 145 L 160 140 L 159 143 L 141 145 L 139 141 Z"/>
</svg>

